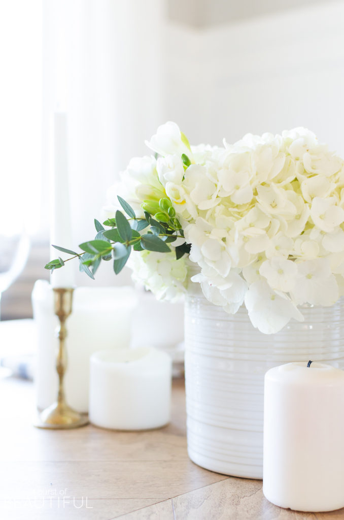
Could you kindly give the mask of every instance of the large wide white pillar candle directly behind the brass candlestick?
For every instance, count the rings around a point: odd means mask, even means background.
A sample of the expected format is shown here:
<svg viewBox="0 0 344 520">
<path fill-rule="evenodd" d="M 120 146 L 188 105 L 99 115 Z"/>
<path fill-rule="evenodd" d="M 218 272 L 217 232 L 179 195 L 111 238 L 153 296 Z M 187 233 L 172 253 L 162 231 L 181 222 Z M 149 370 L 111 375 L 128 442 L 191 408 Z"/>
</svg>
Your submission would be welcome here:
<svg viewBox="0 0 344 520">
<path fill-rule="evenodd" d="M 88 411 L 89 357 L 99 350 L 126 348 L 131 340 L 131 319 L 137 296 L 131 287 L 78 287 L 67 321 L 67 402 L 78 412 Z M 38 280 L 32 292 L 37 329 L 36 404 L 44 409 L 56 400 L 58 319 L 51 285 Z"/>
</svg>

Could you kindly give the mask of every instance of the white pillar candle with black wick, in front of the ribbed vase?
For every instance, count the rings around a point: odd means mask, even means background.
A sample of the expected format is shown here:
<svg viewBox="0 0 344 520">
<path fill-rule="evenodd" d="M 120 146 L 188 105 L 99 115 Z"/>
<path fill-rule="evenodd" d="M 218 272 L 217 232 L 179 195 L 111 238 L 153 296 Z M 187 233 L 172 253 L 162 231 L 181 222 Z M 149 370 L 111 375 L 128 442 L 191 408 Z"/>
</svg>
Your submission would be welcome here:
<svg viewBox="0 0 344 520">
<path fill-rule="evenodd" d="M 344 506 L 344 372 L 288 363 L 266 373 L 263 493 L 297 511 Z"/>
</svg>

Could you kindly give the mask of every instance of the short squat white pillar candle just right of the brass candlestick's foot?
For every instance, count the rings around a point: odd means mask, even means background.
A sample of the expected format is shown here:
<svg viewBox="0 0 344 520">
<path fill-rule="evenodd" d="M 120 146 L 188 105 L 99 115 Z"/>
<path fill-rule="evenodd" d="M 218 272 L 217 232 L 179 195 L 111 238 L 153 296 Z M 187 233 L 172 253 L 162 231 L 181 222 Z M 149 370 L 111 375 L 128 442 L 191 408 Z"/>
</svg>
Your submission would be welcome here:
<svg viewBox="0 0 344 520">
<path fill-rule="evenodd" d="M 91 356 L 90 422 L 114 430 L 148 430 L 170 418 L 171 358 L 155 348 Z"/>
</svg>

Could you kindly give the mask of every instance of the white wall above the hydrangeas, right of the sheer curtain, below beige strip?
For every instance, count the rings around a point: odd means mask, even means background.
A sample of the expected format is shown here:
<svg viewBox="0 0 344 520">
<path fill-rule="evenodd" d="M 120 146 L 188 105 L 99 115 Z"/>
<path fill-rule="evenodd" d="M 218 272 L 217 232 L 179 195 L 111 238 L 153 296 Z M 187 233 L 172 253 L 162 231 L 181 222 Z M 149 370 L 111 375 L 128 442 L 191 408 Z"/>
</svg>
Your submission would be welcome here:
<svg viewBox="0 0 344 520">
<path fill-rule="evenodd" d="M 213 144 L 303 125 L 344 153 L 343 19 L 344 3 L 327 2 L 202 31 L 170 24 L 163 119 Z"/>
</svg>

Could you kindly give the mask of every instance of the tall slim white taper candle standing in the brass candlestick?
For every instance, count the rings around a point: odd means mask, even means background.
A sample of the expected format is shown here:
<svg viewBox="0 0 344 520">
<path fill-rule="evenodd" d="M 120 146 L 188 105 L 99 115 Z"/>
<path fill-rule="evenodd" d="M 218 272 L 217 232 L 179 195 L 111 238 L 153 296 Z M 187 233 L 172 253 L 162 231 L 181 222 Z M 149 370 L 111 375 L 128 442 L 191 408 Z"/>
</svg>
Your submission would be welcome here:
<svg viewBox="0 0 344 520">
<path fill-rule="evenodd" d="M 65 113 L 54 114 L 52 132 L 50 244 L 60 245 L 73 251 L 68 180 L 67 115 Z M 50 248 L 51 259 L 57 258 L 61 254 L 58 250 Z M 74 287 L 74 269 L 75 262 L 73 261 L 65 263 L 60 269 L 55 269 L 51 273 L 52 287 Z"/>
</svg>

